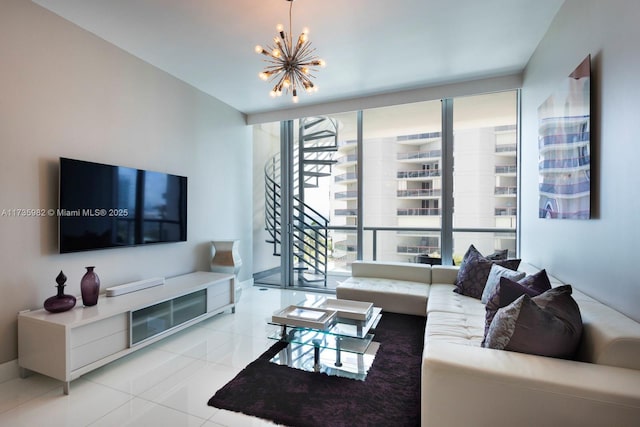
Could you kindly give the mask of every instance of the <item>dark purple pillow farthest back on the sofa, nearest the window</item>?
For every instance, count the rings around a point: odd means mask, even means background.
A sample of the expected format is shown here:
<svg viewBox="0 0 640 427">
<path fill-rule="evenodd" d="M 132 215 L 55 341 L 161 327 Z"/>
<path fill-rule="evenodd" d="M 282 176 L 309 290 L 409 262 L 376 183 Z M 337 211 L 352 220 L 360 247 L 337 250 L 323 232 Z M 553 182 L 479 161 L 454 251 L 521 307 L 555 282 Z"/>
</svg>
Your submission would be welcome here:
<svg viewBox="0 0 640 427">
<path fill-rule="evenodd" d="M 456 288 L 453 291 L 480 299 L 494 263 L 514 271 L 518 270 L 520 266 L 519 259 L 491 261 L 482 256 L 475 246 L 469 246 L 462 258 L 462 264 L 456 277 Z"/>
</svg>

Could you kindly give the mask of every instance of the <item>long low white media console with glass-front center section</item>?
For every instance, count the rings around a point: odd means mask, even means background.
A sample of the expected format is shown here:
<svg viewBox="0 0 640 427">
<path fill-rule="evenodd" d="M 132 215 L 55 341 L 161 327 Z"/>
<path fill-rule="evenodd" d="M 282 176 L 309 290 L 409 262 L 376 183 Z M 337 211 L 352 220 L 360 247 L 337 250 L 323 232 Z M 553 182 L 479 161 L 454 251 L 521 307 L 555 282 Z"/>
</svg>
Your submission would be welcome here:
<svg viewBox="0 0 640 427">
<path fill-rule="evenodd" d="M 235 276 L 195 272 L 98 304 L 18 315 L 18 365 L 64 382 L 227 309 L 235 312 Z"/>
</svg>

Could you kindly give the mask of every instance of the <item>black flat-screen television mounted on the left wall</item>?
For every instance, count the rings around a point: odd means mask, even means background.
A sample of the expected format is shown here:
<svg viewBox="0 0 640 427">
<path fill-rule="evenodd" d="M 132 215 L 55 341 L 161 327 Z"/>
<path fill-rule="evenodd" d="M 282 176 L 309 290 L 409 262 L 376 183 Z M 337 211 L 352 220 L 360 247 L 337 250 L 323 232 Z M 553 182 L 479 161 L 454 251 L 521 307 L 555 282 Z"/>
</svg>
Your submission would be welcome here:
<svg viewBox="0 0 640 427">
<path fill-rule="evenodd" d="M 187 240 L 187 178 L 60 158 L 60 253 Z"/>
</svg>

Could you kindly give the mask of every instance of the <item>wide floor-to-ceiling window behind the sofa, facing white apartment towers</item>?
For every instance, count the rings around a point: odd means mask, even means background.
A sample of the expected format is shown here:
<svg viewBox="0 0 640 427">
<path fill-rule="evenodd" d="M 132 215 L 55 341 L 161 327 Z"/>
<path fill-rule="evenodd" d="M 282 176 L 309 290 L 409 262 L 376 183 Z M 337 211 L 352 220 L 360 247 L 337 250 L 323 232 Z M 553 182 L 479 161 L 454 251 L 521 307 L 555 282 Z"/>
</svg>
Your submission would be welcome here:
<svg viewBox="0 0 640 427">
<path fill-rule="evenodd" d="M 322 223 L 328 274 L 356 259 L 455 263 L 472 243 L 515 255 L 517 103 L 510 91 L 288 122 L 293 213 L 276 228 L 298 230 L 294 268 L 323 246 Z"/>
</svg>

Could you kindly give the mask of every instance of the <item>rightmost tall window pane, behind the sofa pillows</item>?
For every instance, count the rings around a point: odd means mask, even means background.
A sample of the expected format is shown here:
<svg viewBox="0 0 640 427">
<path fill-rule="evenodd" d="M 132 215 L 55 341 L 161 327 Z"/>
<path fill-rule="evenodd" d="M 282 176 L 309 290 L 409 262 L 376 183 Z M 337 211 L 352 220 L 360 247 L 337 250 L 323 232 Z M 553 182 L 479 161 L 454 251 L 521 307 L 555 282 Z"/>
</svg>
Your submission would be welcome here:
<svg viewBox="0 0 640 427">
<path fill-rule="evenodd" d="M 453 100 L 453 259 L 516 255 L 517 92 Z"/>
</svg>

